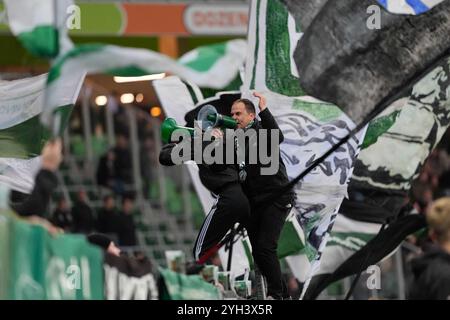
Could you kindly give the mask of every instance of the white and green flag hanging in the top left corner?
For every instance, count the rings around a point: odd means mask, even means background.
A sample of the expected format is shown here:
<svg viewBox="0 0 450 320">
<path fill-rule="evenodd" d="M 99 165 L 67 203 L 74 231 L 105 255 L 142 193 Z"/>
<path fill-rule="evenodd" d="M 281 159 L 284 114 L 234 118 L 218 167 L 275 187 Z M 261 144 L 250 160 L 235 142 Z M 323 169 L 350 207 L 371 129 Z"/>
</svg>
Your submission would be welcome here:
<svg viewBox="0 0 450 320">
<path fill-rule="evenodd" d="M 55 58 L 73 45 L 66 25 L 72 0 L 4 0 L 11 32 L 33 55 Z"/>
</svg>

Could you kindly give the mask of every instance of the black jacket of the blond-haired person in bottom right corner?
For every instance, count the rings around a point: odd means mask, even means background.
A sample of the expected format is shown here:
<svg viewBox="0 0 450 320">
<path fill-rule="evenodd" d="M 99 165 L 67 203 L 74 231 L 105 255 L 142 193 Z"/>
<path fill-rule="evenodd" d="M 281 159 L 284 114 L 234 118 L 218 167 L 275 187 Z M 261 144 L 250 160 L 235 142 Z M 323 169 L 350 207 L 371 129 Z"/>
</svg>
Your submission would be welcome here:
<svg viewBox="0 0 450 320">
<path fill-rule="evenodd" d="M 411 300 L 450 300 L 450 254 L 433 247 L 411 261 Z"/>
</svg>

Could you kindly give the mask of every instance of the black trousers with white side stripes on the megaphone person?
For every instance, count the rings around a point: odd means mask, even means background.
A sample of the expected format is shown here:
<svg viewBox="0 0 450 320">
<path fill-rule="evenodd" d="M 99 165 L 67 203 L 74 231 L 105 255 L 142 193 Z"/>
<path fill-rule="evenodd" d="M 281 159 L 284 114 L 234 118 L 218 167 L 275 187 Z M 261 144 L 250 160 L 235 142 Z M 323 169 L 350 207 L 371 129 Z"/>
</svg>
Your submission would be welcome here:
<svg viewBox="0 0 450 320">
<path fill-rule="evenodd" d="M 217 245 L 236 222 L 247 221 L 250 214 L 248 199 L 238 182 L 225 185 L 217 194 L 214 205 L 203 221 L 194 245 L 194 259 Z M 200 262 L 202 262 L 200 260 Z"/>
</svg>

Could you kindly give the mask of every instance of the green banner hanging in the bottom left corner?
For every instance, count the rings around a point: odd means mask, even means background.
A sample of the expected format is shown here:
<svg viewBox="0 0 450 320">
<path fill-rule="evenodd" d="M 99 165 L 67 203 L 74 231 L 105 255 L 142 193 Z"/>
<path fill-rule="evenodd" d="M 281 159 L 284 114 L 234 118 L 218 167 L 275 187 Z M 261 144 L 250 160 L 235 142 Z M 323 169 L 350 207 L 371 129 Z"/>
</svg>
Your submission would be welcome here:
<svg viewBox="0 0 450 320">
<path fill-rule="evenodd" d="M 40 225 L 0 212 L 0 240 L 0 280 L 6 281 L 0 284 L 0 298 L 104 298 L 103 252 L 83 235 L 52 236 Z"/>
</svg>

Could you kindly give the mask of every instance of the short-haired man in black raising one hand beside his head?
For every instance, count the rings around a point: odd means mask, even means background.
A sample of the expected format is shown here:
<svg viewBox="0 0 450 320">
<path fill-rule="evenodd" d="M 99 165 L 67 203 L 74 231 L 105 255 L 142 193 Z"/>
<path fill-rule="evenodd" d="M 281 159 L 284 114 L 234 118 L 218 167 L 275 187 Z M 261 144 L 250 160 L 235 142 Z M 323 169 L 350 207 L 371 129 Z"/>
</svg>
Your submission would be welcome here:
<svg viewBox="0 0 450 320">
<path fill-rule="evenodd" d="M 250 219 L 245 227 L 255 262 L 267 279 L 269 299 L 282 299 L 283 284 L 277 246 L 284 222 L 292 208 L 294 192 L 288 191 L 270 203 L 265 201 L 289 180 L 279 149 L 284 139 L 283 134 L 266 106 L 266 98 L 256 92 L 253 95 L 259 98 L 261 121 L 256 119 L 255 106 L 248 99 L 236 100 L 231 107 L 231 116 L 236 120 L 237 128 L 249 133 L 248 143 L 245 143 L 245 163 L 239 163 L 239 178 L 251 208 Z M 267 134 L 265 139 L 264 134 Z M 240 148 L 237 149 L 239 152 Z M 271 159 L 278 155 L 277 168 L 272 167 L 273 163 L 262 161 L 264 151 L 271 153 Z M 255 152 L 258 154 L 252 154 Z M 252 161 L 255 156 L 257 161 Z"/>
</svg>

